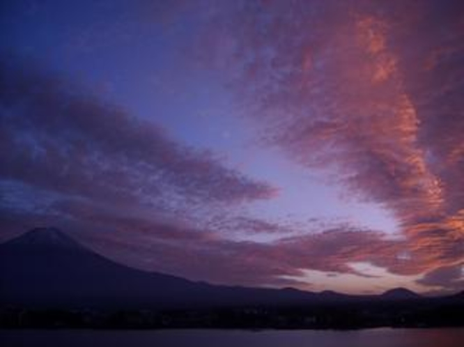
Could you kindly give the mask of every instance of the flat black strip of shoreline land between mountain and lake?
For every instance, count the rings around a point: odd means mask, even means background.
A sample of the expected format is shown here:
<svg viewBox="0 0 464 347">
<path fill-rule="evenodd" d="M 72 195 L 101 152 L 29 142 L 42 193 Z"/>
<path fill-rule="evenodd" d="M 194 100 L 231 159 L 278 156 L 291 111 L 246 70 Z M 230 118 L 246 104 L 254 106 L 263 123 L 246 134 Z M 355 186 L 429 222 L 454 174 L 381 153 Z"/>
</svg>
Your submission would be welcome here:
<svg viewBox="0 0 464 347">
<path fill-rule="evenodd" d="M 1 309 L 1 328 L 364 329 L 464 327 L 464 304 L 443 298 L 210 309 Z"/>
</svg>

